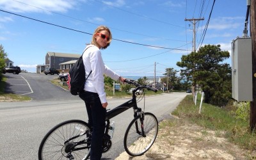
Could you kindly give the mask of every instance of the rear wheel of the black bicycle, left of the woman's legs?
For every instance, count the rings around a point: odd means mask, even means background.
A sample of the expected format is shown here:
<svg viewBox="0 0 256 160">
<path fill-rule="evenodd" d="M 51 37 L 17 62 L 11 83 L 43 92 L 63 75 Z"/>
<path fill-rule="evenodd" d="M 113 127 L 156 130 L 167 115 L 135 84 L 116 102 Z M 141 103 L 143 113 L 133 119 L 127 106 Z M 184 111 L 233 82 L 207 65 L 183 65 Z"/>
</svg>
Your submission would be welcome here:
<svg viewBox="0 0 256 160">
<path fill-rule="evenodd" d="M 86 134 L 83 136 L 78 136 L 84 131 L 90 131 L 89 125 L 82 120 L 67 120 L 62 122 L 55 127 L 53 127 L 47 134 L 44 136 L 40 147 L 38 150 L 38 159 L 69 159 L 67 157 L 68 153 L 65 152 L 68 143 L 73 145 L 77 141 L 87 140 Z M 74 140 L 70 140 L 66 145 L 65 141 L 70 138 L 77 136 Z M 87 147 L 86 143 L 79 145 L 79 147 Z M 73 148 L 72 148 L 73 149 Z M 90 148 L 85 148 L 83 150 L 72 151 L 72 156 L 74 159 L 88 159 L 90 156 Z"/>
</svg>

